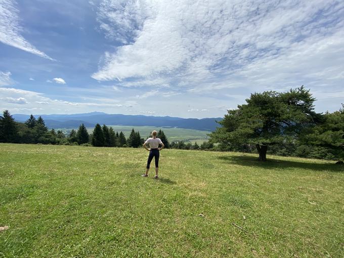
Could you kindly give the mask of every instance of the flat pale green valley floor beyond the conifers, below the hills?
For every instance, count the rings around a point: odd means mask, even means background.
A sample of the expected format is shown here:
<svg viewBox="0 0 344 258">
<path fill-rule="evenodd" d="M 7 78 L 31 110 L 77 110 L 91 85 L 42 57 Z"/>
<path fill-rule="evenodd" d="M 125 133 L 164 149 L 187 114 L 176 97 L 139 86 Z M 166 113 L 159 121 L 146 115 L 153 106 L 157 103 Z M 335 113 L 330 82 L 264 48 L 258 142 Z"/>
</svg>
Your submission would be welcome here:
<svg viewBox="0 0 344 258">
<path fill-rule="evenodd" d="M 130 136 L 132 129 L 134 128 L 135 132 L 139 131 L 142 138 L 147 138 L 153 130 L 159 131 L 160 129 L 164 132 L 169 142 L 173 141 L 189 141 L 189 142 L 196 142 L 198 144 L 202 144 L 203 142 L 208 140 L 207 134 L 210 132 L 208 131 L 200 131 L 200 130 L 193 130 L 193 129 L 185 129 L 185 128 L 169 128 L 169 127 L 154 127 L 154 126 L 125 126 L 125 125 L 108 125 L 113 128 L 116 132 L 122 131 L 126 138 Z M 93 132 L 93 127 L 88 127 L 87 130 L 89 133 Z M 66 135 L 68 135 L 71 129 L 67 128 L 58 128 L 55 131 L 62 130 Z M 74 128 L 77 130 L 77 128 Z"/>
</svg>

